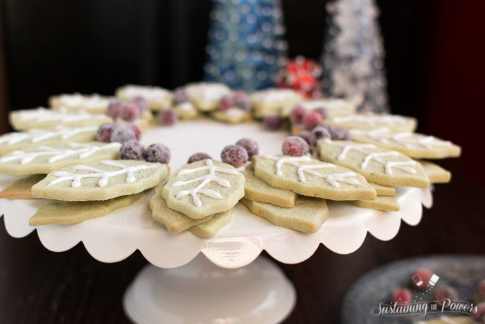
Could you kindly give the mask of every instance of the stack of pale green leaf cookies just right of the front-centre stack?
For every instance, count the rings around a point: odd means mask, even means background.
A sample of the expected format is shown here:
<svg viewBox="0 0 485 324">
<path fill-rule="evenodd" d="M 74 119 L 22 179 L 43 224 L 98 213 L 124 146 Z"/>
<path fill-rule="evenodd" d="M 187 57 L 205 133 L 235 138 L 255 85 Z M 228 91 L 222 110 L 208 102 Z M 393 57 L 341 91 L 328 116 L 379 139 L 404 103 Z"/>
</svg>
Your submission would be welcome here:
<svg viewBox="0 0 485 324">
<path fill-rule="evenodd" d="M 245 176 L 241 203 L 274 225 L 301 232 L 316 232 L 328 219 L 326 199 L 376 197 L 360 174 L 308 155 L 256 155 Z"/>
</svg>

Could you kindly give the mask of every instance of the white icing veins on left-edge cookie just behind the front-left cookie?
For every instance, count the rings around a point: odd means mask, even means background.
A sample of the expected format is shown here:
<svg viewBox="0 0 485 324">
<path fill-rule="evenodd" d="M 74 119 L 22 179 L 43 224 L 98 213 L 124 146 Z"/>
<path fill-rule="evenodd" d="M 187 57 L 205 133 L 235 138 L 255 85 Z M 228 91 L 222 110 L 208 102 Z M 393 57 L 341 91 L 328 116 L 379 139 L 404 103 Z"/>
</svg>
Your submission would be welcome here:
<svg viewBox="0 0 485 324">
<path fill-rule="evenodd" d="M 53 163 L 58 160 L 62 160 L 70 155 L 78 155 L 78 159 L 83 159 L 89 157 L 94 153 L 99 151 L 120 148 L 120 143 L 109 143 L 105 145 L 93 145 L 88 143 L 69 143 L 67 144 L 71 148 L 52 148 L 51 146 L 39 146 L 38 151 L 35 152 L 24 152 L 24 151 L 13 151 L 4 155 L 0 158 L 0 163 L 10 162 L 14 160 L 20 160 L 20 164 L 28 164 L 32 162 L 36 157 L 44 155 L 53 155 L 48 159 L 48 163 Z"/>
</svg>

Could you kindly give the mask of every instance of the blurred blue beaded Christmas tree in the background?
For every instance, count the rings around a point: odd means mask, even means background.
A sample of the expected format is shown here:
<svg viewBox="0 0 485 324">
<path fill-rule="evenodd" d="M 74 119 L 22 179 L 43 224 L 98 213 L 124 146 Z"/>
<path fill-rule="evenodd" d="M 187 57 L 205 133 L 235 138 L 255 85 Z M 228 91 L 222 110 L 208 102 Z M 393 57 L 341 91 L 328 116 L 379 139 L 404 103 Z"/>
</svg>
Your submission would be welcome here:
<svg viewBox="0 0 485 324">
<path fill-rule="evenodd" d="M 284 34 L 279 0 L 213 0 L 204 80 L 247 92 L 274 87 Z"/>
</svg>

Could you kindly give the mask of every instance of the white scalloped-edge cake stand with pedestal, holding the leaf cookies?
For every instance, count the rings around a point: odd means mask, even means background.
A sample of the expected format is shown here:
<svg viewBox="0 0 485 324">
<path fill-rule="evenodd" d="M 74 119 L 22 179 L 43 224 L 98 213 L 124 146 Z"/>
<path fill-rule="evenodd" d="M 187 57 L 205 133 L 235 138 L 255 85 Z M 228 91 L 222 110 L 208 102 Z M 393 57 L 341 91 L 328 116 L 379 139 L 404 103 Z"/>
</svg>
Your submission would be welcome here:
<svg viewBox="0 0 485 324">
<path fill-rule="evenodd" d="M 198 120 L 153 128 L 143 136 L 143 144 L 163 142 L 171 148 L 170 167 L 175 170 L 197 151 L 218 157 L 224 146 L 242 137 L 256 139 L 262 153 L 279 153 L 287 134 L 265 132 L 258 123 L 228 128 Z M 15 178 L 0 176 L 0 189 Z M 40 199 L 2 199 L 0 212 L 12 237 L 37 230 L 49 250 L 69 250 L 82 241 L 101 262 L 118 262 L 140 250 L 150 264 L 136 275 L 123 300 L 127 316 L 136 323 L 278 323 L 290 314 L 296 296 L 281 270 L 258 258 L 262 250 L 287 264 L 308 259 L 319 244 L 335 253 L 352 253 L 367 232 L 383 241 L 392 239 L 401 220 L 416 225 L 422 205 L 432 205 L 429 189 L 407 187 L 397 188 L 399 212 L 328 201 L 328 221 L 317 232 L 305 234 L 276 227 L 238 204 L 229 225 L 215 237 L 202 239 L 190 232 L 172 234 L 154 221 L 148 205 L 151 196 L 149 192 L 129 207 L 74 225 L 30 227 L 28 219 L 43 202 Z"/>
</svg>

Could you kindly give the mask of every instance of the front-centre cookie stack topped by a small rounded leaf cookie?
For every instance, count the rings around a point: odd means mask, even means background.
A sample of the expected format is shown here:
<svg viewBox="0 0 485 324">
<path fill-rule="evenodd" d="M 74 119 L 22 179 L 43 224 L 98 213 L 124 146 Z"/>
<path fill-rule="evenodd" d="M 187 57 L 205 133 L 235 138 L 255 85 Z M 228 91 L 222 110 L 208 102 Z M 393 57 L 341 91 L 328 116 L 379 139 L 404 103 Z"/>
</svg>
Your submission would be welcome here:
<svg viewBox="0 0 485 324">
<path fill-rule="evenodd" d="M 244 184 L 245 176 L 229 164 L 211 159 L 186 164 L 155 189 L 152 217 L 170 232 L 212 237 L 231 222 Z"/>
</svg>

